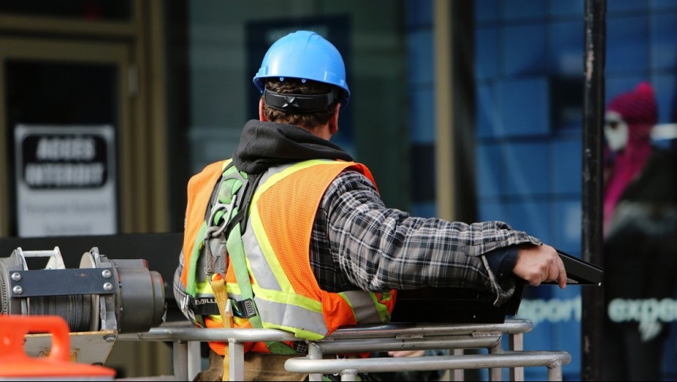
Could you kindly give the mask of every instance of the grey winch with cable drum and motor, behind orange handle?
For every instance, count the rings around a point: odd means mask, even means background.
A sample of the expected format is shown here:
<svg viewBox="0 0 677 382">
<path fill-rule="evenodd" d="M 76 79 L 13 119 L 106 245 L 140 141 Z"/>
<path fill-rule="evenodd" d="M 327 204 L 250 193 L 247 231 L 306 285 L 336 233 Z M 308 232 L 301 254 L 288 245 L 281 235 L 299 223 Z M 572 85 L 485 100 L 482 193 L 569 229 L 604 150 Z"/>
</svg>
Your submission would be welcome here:
<svg viewBox="0 0 677 382">
<path fill-rule="evenodd" d="M 163 278 L 146 260 L 113 260 L 93 247 L 79 268 L 66 268 L 56 246 L 19 247 L 0 258 L 0 308 L 1 314 L 61 316 L 71 331 L 71 358 L 104 364 L 119 333 L 161 325 L 167 306 Z M 25 347 L 29 355 L 46 353 L 49 336 L 26 336 Z"/>
</svg>

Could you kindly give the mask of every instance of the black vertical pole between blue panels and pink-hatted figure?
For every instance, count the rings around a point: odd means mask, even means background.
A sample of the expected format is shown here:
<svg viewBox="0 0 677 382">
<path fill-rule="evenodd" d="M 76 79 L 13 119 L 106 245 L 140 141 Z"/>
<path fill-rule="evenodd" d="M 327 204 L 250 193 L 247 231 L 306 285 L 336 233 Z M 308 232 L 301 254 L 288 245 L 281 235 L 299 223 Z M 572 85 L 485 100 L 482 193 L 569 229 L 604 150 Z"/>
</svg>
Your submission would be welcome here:
<svg viewBox="0 0 677 382">
<path fill-rule="evenodd" d="M 602 265 L 602 124 L 604 121 L 604 61 L 606 1 L 585 2 L 583 195 L 581 257 Z M 597 286 L 581 288 L 581 381 L 601 381 L 604 295 Z"/>
</svg>

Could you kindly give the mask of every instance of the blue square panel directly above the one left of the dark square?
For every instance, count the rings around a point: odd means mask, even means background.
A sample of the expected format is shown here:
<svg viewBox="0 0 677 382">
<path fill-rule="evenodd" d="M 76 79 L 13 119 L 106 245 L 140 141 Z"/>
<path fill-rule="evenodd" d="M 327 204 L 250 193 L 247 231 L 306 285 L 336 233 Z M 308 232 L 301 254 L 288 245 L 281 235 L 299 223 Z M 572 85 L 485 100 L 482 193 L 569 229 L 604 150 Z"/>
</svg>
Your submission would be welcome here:
<svg viewBox="0 0 677 382">
<path fill-rule="evenodd" d="M 546 72 L 546 27 L 543 23 L 503 29 L 503 71 L 506 76 Z"/>
</svg>

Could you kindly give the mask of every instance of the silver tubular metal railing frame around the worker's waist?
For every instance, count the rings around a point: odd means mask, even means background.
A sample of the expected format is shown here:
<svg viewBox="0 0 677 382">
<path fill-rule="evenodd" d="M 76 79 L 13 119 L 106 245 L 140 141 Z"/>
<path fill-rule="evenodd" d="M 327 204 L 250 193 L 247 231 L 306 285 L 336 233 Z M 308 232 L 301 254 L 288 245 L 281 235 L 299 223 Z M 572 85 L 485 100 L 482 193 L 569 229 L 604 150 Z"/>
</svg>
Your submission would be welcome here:
<svg viewBox="0 0 677 382">
<path fill-rule="evenodd" d="M 562 380 L 562 366 L 571 362 L 566 351 L 524 351 L 524 333 L 531 331 L 529 320 L 508 319 L 504 323 L 443 324 L 389 323 L 386 325 L 342 328 L 320 341 L 307 341 L 308 355 L 290 358 L 287 371 L 308 373 L 310 381 L 322 381 L 322 374 L 339 373 L 342 381 L 355 381 L 357 373 L 381 371 L 444 370 L 453 381 L 462 381 L 464 369 L 489 368 L 490 381 L 502 381 L 503 368 L 510 378 L 524 381 L 524 368 L 548 368 L 549 381 Z M 509 348 L 502 348 L 508 336 Z M 193 328 L 161 326 L 146 333 L 126 333 L 121 341 L 172 341 L 174 378 L 190 381 L 200 371 L 201 341 L 227 341 L 230 381 L 244 380 L 244 343 L 258 341 L 305 341 L 276 329 Z M 354 352 L 452 349 L 449 356 L 410 358 L 325 358 Z M 463 349 L 486 348 L 487 354 L 464 354 Z"/>
</svg>

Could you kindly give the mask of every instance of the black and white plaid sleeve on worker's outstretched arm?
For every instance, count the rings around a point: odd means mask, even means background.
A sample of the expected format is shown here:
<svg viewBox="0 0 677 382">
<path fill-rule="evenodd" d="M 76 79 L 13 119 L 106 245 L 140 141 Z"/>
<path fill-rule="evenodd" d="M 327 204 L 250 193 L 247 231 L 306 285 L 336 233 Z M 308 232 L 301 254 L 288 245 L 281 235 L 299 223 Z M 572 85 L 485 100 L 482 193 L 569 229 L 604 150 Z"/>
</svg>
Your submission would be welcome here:
<svg viewBox="0 0 677 382">
<path fill-rule="evenodd" d="M 467 224 L 387 208 L 356 171 L 338 176 L 320 207 L 333 262 L 349 283 L 367 291 L 453 286 L 501 295 L 484 253 L 540 243 L 500 221 Z"/>
</svg>

